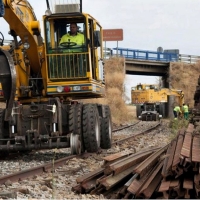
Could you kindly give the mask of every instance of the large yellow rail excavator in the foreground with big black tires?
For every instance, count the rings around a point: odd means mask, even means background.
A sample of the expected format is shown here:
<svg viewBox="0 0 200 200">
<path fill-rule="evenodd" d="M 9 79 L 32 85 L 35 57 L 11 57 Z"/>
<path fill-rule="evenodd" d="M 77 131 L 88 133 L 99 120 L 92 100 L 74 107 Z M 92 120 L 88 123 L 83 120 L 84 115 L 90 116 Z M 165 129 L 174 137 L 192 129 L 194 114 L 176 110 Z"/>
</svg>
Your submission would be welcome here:
<svg viewBox="0 0 200 200">
<path fill-rule="evenodd" d="M 0 152 L 109 149 L 109 106 L 82 101 L 105 95 L 102 27 L 82 12 L 81 0 L 46 4 L 43 37 L 27 0 L 3 0 L 13 40 L 5 43 L 1 33 L 0 101 L 5 107 L 0 109 Z M 84 35 L 83 44 L 60 44 L 71 23 Z"/>
</svg>

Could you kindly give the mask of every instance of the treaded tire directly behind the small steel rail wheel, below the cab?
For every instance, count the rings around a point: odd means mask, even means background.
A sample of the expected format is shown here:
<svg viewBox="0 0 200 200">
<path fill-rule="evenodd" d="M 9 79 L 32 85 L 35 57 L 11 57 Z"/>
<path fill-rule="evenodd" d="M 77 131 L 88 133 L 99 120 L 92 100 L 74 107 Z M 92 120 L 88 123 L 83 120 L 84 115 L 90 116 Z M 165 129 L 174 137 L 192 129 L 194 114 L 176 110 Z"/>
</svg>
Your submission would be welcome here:
<svg viewBox="0 0 200 200">
<path fill-rule="evenodd" d="M 69 132 L 79 135 L 81 142 L 81 153 L 84 152 L 83 134 L 82 134 L 82 104 L 73 104 L 69 109 Z"/>
</svg>

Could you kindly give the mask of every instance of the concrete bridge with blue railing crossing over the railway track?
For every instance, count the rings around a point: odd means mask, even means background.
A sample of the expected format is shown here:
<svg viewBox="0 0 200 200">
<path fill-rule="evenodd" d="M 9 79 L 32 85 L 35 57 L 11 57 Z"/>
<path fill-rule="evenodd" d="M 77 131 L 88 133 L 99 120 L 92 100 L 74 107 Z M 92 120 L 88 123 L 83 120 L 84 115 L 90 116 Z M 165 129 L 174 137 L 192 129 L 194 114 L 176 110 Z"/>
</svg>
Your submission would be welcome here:
<svg viewBox="0 0 200 200">
<path fill-rule="evenodd" d="M 200 56 L 126 48 L 106 49 L 105 52 L 108 57 L 125 58 L 126 74 L 162 77 L 163 87 L 169 87 L 166 80 L 172 62 L 195 63 L 200 60 Z"/>
</svg>

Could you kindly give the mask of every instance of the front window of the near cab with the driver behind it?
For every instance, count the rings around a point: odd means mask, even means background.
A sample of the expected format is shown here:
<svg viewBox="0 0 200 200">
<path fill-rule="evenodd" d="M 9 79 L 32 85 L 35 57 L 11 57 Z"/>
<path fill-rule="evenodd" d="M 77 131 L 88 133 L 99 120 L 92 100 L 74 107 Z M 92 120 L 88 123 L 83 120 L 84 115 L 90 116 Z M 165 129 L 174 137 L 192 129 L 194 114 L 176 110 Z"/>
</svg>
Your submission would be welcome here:
<svg viewBox="0 0 200 200">
<path fill-rule="evenodd" d="M 86 52 L 85 20 L 71 18 L 46 19 L 47 53 Z"/>
</svg>

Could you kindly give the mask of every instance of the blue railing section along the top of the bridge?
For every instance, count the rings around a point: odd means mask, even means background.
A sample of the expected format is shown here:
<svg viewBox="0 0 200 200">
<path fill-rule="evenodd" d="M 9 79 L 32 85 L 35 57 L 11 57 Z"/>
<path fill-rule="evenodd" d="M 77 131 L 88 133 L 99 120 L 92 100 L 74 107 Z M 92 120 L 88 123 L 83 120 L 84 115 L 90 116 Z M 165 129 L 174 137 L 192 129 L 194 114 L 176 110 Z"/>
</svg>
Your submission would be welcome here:
<svg viewBox="0 0 200 200">
<path fill-rule="evenodd" d="M 126 48 L 113 48 L 111 49 L 111 56 L 118 55 L 130 59 L 140 60 L 155 60 L 164 62 L 177 62 L 179 60 L 179 54 L 176 53 L 164 53 L 157 51 L 146 51 Z"/>
</svg>

